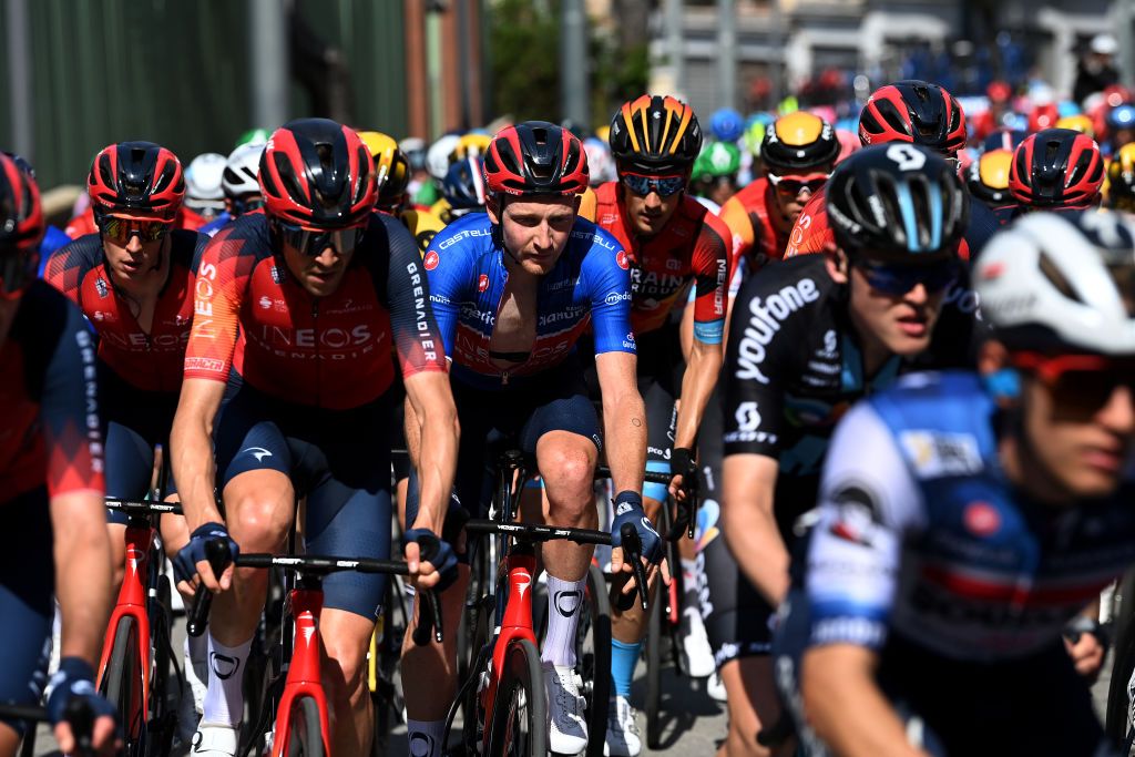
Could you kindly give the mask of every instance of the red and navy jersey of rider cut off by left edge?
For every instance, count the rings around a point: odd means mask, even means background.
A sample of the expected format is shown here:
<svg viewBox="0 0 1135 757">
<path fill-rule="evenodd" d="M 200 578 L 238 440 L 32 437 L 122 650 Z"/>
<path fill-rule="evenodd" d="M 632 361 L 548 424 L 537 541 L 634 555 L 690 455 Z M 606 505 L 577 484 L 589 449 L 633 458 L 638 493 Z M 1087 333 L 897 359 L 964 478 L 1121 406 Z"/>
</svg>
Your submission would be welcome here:
<svg viewBox="0 0 1135 757">
<path fill-rule="evenodd" d="M 0 344 L 0 503 L 45 486 L 49 496 L 103 490 L 94 337 L 43 281 L 19 300 Z"/>
</svg>

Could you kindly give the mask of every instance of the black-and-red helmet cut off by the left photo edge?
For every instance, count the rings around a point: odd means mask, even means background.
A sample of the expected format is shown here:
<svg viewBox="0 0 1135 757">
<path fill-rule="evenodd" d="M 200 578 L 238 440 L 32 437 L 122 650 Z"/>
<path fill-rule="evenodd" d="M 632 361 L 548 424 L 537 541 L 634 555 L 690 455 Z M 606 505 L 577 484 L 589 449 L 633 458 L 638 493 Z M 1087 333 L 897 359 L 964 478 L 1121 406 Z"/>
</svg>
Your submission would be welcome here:
<svg viewBox="0 0 1135 757">
<path fill-rule="evenodd" d="M 44 229 L 35 179 L 0 154 L 0 296 L 20 292 L 35 278 Z"/>
</svg>

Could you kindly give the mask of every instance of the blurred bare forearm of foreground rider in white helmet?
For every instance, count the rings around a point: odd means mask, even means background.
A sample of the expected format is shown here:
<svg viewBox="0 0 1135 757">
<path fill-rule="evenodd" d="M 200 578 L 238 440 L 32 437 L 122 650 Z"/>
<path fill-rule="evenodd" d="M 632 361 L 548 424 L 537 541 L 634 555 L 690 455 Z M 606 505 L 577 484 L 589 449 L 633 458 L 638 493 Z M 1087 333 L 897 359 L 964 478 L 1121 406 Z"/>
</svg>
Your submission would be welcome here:
<svg viewBox="0 0 1135 757">
<path fill-rule="evenodd" d="M 817 651 L 805 655 L 801 693 L 808 720 L 835 755 L 925 757 L 868 673 L 824 665 L 825 650 Z"/>
</svg>

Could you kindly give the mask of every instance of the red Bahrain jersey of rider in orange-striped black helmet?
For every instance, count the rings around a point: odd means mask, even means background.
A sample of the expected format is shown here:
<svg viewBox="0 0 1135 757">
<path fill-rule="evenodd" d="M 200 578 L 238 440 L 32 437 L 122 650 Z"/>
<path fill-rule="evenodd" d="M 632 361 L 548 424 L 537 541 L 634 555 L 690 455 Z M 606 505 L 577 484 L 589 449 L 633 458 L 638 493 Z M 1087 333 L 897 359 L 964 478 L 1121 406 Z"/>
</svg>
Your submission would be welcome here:
<svg viewBox="0 0 1135 757">
<path fill-rule="evenodd" d="M 634 234 L 620 200 L 619 182 L 596 190 L 596 224 L 614 235 L 631 266 L 631 327 L 641 336 L 666 317 L 692 279 L 695 336 L 720 344 L 725 326 L 725 292 L 732 234 L 700 202 L 684 195 L 665 228 L 649 238 Z"/>
</svg>

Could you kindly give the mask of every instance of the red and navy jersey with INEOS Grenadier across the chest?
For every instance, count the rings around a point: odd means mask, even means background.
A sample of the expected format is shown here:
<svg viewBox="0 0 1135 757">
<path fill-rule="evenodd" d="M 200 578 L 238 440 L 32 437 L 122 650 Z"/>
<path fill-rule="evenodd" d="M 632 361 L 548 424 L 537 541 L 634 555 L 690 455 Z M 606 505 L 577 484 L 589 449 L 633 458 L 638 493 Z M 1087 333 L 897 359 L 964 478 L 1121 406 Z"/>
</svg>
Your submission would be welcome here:
<svg viewBox="0 0 1135 757">
<path fill-rule="evenodd" d="M 413 237 L 372 213 L 335 293 L 314 297 L 274 254 L 263 213 L 241 216 L 205 247 L 185 377 L 250 386 L 288 402 L 359 407 L 404 377 L 445 371 L 445 351 Z"/>
</svg>

